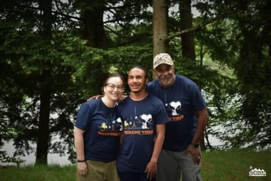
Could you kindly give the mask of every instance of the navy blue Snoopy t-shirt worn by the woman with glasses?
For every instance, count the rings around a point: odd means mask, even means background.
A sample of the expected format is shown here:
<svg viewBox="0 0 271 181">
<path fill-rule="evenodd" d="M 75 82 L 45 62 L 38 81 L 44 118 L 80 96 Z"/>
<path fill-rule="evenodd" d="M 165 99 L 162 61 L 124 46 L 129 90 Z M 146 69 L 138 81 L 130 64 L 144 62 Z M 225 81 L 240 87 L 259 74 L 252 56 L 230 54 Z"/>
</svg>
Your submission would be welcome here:
<svg viewBox="0 0 271 181">
<path fill-rule="evenodd" d="M 84 130 L 85 159 L 111 162 L 119 151 L 123 131 L 117 119 L 117 107 L 107 107 L 101 99 L 88 101 L 80 107 L 75 126 Z"/>
</svg>

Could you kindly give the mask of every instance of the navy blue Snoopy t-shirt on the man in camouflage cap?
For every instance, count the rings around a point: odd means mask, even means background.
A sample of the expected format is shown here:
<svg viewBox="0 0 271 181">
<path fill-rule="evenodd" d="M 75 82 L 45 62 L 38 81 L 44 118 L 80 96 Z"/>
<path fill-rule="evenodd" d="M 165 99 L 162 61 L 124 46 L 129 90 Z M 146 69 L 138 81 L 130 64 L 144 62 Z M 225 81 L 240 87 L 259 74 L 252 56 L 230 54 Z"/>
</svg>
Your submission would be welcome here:
<svg viewBox="0 0 271 181">
<path fill-rule="evenodd" d="M 206 107 L 202 94 L 192 80 L 176 75 L 172 86 L 161 87 L 156 79 L 148 83 L 147 91 L 158 97 L 168 113 L 163 149 L 184 151 L 196 132 L 196 111 Z"/>
</svg>

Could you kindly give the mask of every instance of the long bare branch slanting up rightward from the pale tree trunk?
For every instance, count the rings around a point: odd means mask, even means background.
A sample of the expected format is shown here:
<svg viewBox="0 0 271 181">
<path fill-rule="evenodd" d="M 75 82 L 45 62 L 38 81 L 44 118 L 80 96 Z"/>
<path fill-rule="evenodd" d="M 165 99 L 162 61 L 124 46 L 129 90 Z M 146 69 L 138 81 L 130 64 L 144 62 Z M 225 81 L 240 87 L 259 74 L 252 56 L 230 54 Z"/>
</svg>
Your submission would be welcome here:
<svg viewBox="0 0 271 181">
<path fill-rule="evenodd" d="M 222 15 L 220 15 L 220 16 L 217 16 L 217 17 L 215 17 L 215 18 L 213 18 L 213 19 L 211 19 L 211 20 L 209 20 L 209 21 L 206 21 L 206 22 L 202 23 L 201 25 L 193 26 L 193 27 L 191 27 L 191 28 L 188 28 L 188 29 L 185 29 L 185 30 L 182 30 L 182 31 L 178 31 L 178 32 L 176 32 L 176 33 L 174 33 L 174 34 L 168 35 L 167 37 L 164 38 L 164 41 L 168 41 L 168 40 L 170 40 L 170 39 L 172 39 L 172 38 L 175 38 L 175 37 L 177 37 L 177 36 L 180 36 L 180 35 L 182 35 L 182 34 L 186 34 L 186 33 L 189 33 L 189 32 L 196 31 L 196 30 L 198 30 L 198 29 L 200 29 L 200 28 L 202 28 L 202 27 L 204 27 L 204 26 L 206 26 L 206 25 L 208 25 L 208 24 L 210 24 L 210 23 L 215 22 L 216 20 L 218 20 L 218 19 L 220 19 L 220 18 L 224 18 L 224 17 L 226 17 L 226 16 L 228 16 L 228 15 L 230 15 L 230 14 L 237 13 L 238 11 L 239 11 L 239 10 L 229 11 L 229 12 L 227 12 L 227 13 L 225 13 L 225 14 L 222 14 Z"/>
</svg>

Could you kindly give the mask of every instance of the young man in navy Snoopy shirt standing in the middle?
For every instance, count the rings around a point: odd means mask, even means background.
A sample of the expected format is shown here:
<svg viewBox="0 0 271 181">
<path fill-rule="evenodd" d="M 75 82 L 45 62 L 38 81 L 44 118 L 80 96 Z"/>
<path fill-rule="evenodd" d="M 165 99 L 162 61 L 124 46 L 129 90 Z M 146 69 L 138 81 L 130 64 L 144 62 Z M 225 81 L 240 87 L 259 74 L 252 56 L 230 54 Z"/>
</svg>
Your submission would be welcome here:
<svg viewBox="0 0 271 181">
<path fill-rule="evenodd" d="M 117 157 L 121 181 L 155 180 L 156 164 L 164 141 L 168 115 L 162 101 L 146 91 L 146 70 L 129 71 L 131 94 L 119 103 L 123 141 Z"/>
</svg>

